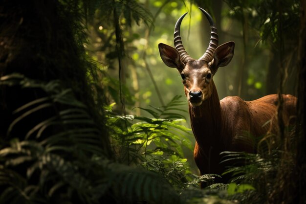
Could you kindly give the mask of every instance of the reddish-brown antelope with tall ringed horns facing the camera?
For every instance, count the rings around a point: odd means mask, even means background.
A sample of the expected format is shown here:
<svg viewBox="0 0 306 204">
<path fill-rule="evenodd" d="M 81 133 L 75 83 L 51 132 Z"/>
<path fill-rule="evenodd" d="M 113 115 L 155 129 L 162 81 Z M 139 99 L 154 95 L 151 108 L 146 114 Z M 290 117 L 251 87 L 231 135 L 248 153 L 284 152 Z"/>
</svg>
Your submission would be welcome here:
<svg viewBox="0 0 306 204">
<path fill-rule="evenodd" d="M 223 168 L 220 153 L 237 151 L 256 153 L 245 132 L 252 136 L 264 136 L 267 132 L 278 132 L 278 94 L 263 96 L 257 100 L 244 101 L 238 96 L 227 96 L 219 101 L 213 77 L 219 67 L 229 64 L 234 55 L 234 42 L 219 45 L 217 28 L 212 17 L 199 8 L 209 21 L 211 38 L 207 50 L 198 60 L 190 57 L 180 37 L 180 24 L 187 13 L 175 24 L 175 48 L 160 43 L 158 45 L 162 61 L 170 68 L 176 68 L 181 75 L 185 95 L 188 100 L 189 115 L 193 134 L 196 138 L 194 159 L 203 174 L 221 174 Z M 283 121 L 292 123 L 296 114 L 297 98 L 284 95 Z M 271 120 L 272 119 L 272 120 Z M 269 125 L 265 125 L 267 121 Z M 241 139 L 241 136 L 244 138 Z M 203 187 L 203 183 L 201 183 Z"/>
</svg>

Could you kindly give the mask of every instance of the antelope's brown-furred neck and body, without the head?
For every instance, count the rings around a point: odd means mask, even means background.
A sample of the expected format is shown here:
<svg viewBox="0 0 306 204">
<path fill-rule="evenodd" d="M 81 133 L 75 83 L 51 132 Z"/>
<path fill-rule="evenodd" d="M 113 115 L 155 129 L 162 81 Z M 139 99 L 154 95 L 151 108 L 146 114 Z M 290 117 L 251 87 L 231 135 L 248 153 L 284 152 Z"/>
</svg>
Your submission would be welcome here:
<svg viewBox="0 0 306 204">
<path fill-rule="evenodd" d="M 283 95 L 284 124 L 294 121 L 297 98 Z M 264 136 L 267 132 L 277 134 L 278 95 L 271 94 L 254 101 L 243 101 L 238 96 L 227 96 L 219 101 L 213 84 L 212 95 L 200 106 L 189 105 L 193 133 L 196 137 L 194 158 L 200 174 L 221 174 L 219 165 L 222 151 L 256 152 L 256 144 L 245 136 Z M 267 121 L 270 123 L 266 124 Z M 264 125 L 266 124 L 266 125 Z M 239 139 L 239 138 L 244 138 Z"/>
</svg>

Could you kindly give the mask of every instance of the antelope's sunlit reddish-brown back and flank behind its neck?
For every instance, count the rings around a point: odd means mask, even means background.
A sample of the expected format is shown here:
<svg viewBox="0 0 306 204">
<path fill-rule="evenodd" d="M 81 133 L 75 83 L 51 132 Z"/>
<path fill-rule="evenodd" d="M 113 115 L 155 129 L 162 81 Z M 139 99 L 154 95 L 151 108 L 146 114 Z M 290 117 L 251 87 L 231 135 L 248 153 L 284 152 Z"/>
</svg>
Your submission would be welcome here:
<svg viewBox="0 0 306 204">
<path fill-rule="evenodd" d="M 294 125 L 296 116 L 297 98 L 292 95 L 283 95 L 283 119 L 284 125 Z M 257 100 L 244 101 L 238 96 L 227 96 L 220 101 L 223 121 L 231 133 L 227 144 L 231 149 L 252 152 L 252 145 L 245 135 L 264 136 L 268 132 L 278 132 L 278 95 L 271 94 Z M 240 141 L 244 136 L 245 141 Z"/>
</svg>

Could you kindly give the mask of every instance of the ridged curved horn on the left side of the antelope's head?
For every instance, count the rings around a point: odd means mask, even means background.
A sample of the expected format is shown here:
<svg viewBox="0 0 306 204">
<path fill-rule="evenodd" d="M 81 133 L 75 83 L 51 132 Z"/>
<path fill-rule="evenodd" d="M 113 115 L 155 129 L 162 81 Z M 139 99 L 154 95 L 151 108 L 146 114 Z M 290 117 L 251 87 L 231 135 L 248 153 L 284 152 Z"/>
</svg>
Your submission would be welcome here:
<svg viewBox="0 0 306 204">
<path fill-rule="evenodd" d="M 179 17 L 177 22 L 175 23 L 175 28 L 174 28 L 174 45 L 175 49 L 178 51 L 179 56 L 181 57 L 182 62 L 185 64 L 189 60 L 193 60 L 185 50 L 182 39 L 180 37 L 180 26 L 182 23 L 183 18 L 186 16 L 187 13 Z"/>
</svg>

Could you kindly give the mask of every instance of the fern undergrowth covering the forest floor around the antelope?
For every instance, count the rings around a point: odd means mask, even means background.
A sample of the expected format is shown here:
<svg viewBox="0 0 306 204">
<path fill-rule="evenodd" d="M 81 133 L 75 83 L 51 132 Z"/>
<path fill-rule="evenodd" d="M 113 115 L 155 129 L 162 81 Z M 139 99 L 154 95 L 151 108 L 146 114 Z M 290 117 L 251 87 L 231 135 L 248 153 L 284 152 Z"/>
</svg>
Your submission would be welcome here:
<svg viewBox="0 0 306 204">
<path fill-rule="evenodd" d="M 263 155 L 223 152 L 223 162 L 243 161 L 224 172 L 233 175 L 230 183 L 215 183 L 219 175 L 193 174 L 184 156 L 193 146 L 191 131 L 182 123 L 180 96 L 164 107 L 141 108 L 152 117 L 116 115 L 108 107 L 115 161 L 106 157 L 103 133 L 86 104 L 60 81 L 11 74 L 0 78 L 0 86 L 44 93 L 13 112 L 8 137 L 0 140 L 1 204 L 262 204 L 275 188 L 278 169 L 289 172 L 294 165 L 292 159 L 280 159 L 285 153 L 281 150 Z M 33 119 L 38 113 L 45 113 L 44 120 Z M 200 181 L 208 187 L 199 189 Z"/>
</svg>

